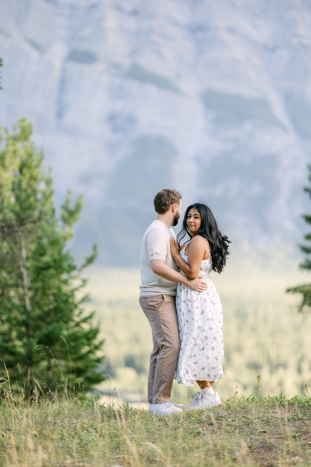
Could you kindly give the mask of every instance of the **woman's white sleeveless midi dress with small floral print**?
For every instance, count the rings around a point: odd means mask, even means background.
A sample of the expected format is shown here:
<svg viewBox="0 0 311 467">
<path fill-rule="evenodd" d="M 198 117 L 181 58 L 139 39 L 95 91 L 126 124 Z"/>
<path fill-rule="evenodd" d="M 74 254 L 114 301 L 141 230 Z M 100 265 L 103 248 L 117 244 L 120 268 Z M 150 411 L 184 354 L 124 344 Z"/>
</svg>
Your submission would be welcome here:
<svg viewBox="0 0 311 467">
<path fill-rule="evenodd" d="M 185 248 L 180 256 L 187 262 Z M 212 269 L 212 260 L 202 260 L 199 276 L 207 283 L 204 292 L 177 285 L 180 354 L 174 379 L 186 386 L 193 386 L 195 380 L 215 381 L 223 375 L 222 307 L 211 281 Z"/>
</svg>

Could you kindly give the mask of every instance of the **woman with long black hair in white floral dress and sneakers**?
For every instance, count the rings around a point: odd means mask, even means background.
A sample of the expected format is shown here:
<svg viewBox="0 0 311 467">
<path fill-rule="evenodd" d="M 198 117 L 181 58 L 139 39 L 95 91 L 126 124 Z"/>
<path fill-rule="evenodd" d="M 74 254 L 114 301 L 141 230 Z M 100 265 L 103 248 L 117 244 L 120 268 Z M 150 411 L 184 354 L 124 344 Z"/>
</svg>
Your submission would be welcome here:
<svg viewBox="0 0 311 467">
<path fill-rule="evenodd" d="M 182 247 L 180 241 L 191 238 Z M 198 410 L 221 404 L 214 381 L 223 375 L 222 308 L 212 282 L 212 270 L 221 272 L 226 264 L 230 241 L 221 234 L 212 211 L 205 204 L 188 206 L 177 242 L 171 237 L 171 253 L 180 272 L 190 279 L 199 275 L 207 290 L 199 293 L 178 284 L 176 308 L 180 330 L 180 354 L 174 378 L 186 386 L 194 380 L 201 392 L 185 409 Z"/>
</svg>

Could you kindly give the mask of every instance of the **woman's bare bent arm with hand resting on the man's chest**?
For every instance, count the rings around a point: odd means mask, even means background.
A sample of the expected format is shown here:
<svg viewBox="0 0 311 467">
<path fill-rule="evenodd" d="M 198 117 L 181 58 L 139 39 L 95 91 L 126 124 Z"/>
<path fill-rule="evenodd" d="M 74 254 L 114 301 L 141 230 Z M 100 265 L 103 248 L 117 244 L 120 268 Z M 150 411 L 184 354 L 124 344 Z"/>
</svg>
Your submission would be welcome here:
<svg viewBox="0 0 311 467">
<path fill-rule="evenodd" d="M 170 238 L 171 254 L 189 279 L 196 279 L 199 276 L 201 262 L 206 251 L 207 243 L 204 238 L 195 236 L 188 245 L 188 263 L 180 256 L 178 244 L 173 237 Z"/>
</svg>

